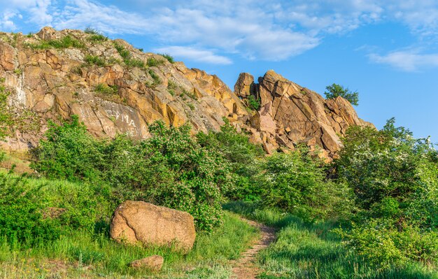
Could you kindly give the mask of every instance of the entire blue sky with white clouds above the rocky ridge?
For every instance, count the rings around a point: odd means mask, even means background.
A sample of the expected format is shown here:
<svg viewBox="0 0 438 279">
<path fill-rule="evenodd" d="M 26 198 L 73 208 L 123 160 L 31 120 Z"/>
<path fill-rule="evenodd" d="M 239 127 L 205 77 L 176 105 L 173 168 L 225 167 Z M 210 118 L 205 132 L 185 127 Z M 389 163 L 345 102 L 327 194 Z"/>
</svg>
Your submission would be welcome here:
<svg viewBox="0 0 438 279">
<path fill-rule="evenodd" d="M 233 87 L 274 69 L 323 94 L 339 83 L 381 128 L 395 117 L 438 142 L 438 1 L 1 0 L 2 31 L 94 27 L 166 52 Z"/>
</svg>

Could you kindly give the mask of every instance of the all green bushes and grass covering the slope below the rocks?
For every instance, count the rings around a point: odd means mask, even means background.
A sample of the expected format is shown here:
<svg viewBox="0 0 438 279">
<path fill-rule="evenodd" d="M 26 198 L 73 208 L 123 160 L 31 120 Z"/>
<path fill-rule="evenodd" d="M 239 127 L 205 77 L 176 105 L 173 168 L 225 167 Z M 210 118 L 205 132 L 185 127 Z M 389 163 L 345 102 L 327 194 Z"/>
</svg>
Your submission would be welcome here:
<svg viewBox="0 0 438 279">
<path fill-rule="evenodd" d="M 225 209 L 279 229 L 258 256 L 261 278 L 437 278 L 437 151 L 394 120 L 352 127 L 332 164 L 305 146 L 264 157 L 228 123 L 197 136 L 187 125 L 149 129 L 143 141 L 97 139 L 73 117 L 50 124 L 34 150 L 38 177 L 0 173 L 1 275 L 147 276 L 127 263 L 158 253 L 160 276 L 228 278 L 229 259 L 256 235 L 222 210 L 233 201 Z M 191 213 L 194 250 L 111 241 L 127 199 Z"/>
</svg>

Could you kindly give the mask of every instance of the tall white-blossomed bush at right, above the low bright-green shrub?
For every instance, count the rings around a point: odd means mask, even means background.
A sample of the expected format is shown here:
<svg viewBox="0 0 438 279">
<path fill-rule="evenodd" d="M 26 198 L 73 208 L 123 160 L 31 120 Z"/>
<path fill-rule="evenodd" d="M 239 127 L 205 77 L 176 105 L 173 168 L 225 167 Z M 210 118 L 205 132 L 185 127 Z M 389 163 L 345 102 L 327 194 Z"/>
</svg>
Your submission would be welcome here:
<svg viewBox="0 0 438 279">
<path fill-rule="evenodd" d="M 339 176 L 366 214 L 437 227 L 437 151 L 394 122 L 388 120 L 381 131 L 349 129 L 337 161 Z"/>
</svg>

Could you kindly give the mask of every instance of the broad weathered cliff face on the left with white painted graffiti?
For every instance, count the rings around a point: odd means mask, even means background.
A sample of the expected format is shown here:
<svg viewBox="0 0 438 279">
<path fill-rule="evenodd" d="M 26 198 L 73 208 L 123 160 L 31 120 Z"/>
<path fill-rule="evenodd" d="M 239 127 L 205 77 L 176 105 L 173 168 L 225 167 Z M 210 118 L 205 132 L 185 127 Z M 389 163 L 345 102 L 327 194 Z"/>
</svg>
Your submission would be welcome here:
<svg viewBox="0 0 438 279">
<path fill-rule="evenodd" d="M 171 64 L 161 55 L 140 52 L 123 40 L 115 40 L 129 50 L 132 59 L 145 64 L 154 58 L 161 64 L 148 69 L 123 63 L 113 41 L 95 43 L 79 30 L 56 31 L 44 27 L 36 36 L 4 34 L 0 40 L 0 78 L 15 99 L 14 106 L 31 110 L 43 123 L 34 141 L 43 136 L 48 120 L 59 115 L 79 116 L 95 136 L 129 134 L 146 138 L 148 124 L 163 120 L 176 127 L 189 122 L 193 132 L 219 130 L 229 115 L 248 117 L 245 105 L 225 83 L 199 69 L 188 69 L 182 62 Z M 85 48 L 39 50 L 25 47 L 64 36 L 80 41 Z M 85 57 L 99 57 L 105 65 L 87 64 Z M 22 75 L 15 71 L 20 69 Z M 160 81 L 156 82 L 151 73 Z M 114 94 L 96 92 L 98 85 L 115 86 Z M 12 102 L 12 101 L 11 101 Z M 235 117 L 235 116 L 234 116 Z M 22 131 L 26 134 L 27 131 Z M 29 137 L 28 137 L 29 138 Z M 8 138 L 9 139 L 9 138 Z M 24 138 L 17 139 L 18 142 Z M 12 140 L 6 148 L 16 146 Z M 5 145 L 1 143 L 2 145 Z"/>
</svg>

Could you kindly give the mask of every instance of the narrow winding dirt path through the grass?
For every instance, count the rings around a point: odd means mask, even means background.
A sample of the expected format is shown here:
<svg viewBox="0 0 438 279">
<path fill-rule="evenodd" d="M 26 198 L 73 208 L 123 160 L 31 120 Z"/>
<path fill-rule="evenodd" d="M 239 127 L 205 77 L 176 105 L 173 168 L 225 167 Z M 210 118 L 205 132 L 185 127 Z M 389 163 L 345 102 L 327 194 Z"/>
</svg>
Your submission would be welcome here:
<svg viewBox="0 0 438 279">
<path fill-rule="evenodd" d="M 243 219 L 253 227 L 260 229 L 262 235 L 253 243 L 253 246 L 242 253 L 241 257 L 234 262 L 232 279 L 255 279 L 259 270 L 254 264 L 257 253 L 269 246 L 275 240 L 275 229 L 254 221 Z"/>
</svg>

